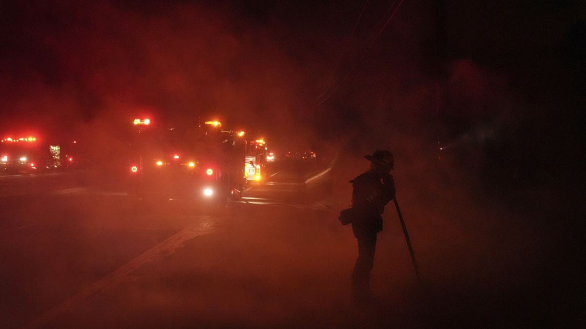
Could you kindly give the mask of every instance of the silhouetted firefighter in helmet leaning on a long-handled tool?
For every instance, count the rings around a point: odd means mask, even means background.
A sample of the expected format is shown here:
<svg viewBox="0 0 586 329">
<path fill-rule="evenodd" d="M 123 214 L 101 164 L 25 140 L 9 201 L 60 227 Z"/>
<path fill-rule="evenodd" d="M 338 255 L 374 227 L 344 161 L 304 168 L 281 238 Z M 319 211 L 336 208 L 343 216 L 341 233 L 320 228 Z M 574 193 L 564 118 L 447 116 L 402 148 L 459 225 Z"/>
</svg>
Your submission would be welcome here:
<svg viewBox="0 0 586 329">
<path fill-rule="evenodd" d="M 395 197 L 395 185 L 390 172 L 393 154 L 376 150 L 364 156 L 370 169 L 351 180 L 352 231 L 358 241 L 358 258 L 352 272 L 352 299 L 361 305 L 372 300 L 369 292 L 370 271 L 374 265 L 376 235 L 383 229 L 384 206 Z"/>
</svg>

